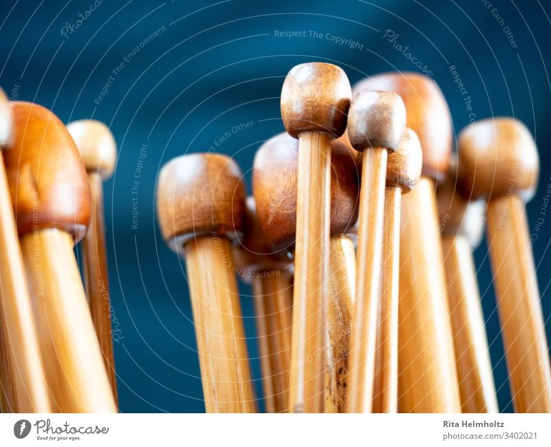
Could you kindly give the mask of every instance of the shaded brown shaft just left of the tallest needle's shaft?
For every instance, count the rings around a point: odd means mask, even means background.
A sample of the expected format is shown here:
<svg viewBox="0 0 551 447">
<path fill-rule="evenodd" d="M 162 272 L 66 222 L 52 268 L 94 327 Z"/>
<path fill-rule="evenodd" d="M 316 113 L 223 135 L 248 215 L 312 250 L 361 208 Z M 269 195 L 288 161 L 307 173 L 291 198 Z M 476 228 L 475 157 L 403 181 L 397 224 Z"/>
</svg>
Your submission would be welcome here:
<svg viewBox="0 0 551 447">
<path fill-rule="evenodd" d="M 285 413 L 289 405 L 293 286 L 289 273 L 278 273 L 252 280 L 267 413 Z"/>
</svg>

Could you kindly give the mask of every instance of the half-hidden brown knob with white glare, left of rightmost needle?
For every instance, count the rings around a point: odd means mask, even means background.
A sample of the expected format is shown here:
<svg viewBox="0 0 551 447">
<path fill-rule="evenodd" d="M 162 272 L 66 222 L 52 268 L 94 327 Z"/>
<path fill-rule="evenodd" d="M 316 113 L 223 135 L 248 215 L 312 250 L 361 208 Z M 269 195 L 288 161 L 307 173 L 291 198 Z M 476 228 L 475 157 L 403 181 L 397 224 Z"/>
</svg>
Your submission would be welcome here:
<svg viewBox="0 0 551 447">
<path fill-rule="evenodd" d="M 436 192 L 442 234 L 463 236 L 476 249 L 484 236 L 486 205 L 484 200 L 468 200 L 457 191 L 457 157 L 452 157 L 450 173 Z"/>
</svg>

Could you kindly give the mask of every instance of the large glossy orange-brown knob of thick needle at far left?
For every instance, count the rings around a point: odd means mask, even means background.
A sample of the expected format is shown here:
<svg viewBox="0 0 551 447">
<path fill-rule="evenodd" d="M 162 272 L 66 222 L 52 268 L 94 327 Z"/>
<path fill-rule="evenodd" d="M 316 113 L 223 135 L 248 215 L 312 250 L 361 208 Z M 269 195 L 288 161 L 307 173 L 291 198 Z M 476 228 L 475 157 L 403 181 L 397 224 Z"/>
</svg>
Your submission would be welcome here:
<svg viewBox="0 0 551 447">
<path fill-rule="evenodd" d="M 67 127 L 41 105 L 11 103 L 12 150 L 4 153 L 19 234 L 46 228 L 78 242 L 90 223 L 90 183 Z"/>
</svg>

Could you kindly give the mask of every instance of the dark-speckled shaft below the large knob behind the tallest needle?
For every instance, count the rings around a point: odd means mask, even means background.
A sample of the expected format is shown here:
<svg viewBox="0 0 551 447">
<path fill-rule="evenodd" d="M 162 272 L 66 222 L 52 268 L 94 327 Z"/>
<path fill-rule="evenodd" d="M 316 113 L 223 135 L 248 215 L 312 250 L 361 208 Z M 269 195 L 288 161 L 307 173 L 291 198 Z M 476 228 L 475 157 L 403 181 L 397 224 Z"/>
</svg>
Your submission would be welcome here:
<svg viewBox="0 0 551 447">
<path fill-rule="evenodd" d="M 350 335 L 354 311 L 356 253 L 349 236 L 332 236 L 329 242 L 330 294 L 327 313 L 325 413 L 344 413 Z"/>
</svg>

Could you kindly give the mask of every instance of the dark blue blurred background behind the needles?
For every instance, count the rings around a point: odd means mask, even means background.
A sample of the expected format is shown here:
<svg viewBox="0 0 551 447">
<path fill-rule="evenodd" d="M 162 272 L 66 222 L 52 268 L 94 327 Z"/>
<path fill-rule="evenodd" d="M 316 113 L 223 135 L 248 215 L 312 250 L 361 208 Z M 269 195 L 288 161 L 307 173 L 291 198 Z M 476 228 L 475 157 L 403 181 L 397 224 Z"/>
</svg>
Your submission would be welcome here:
<svg viewBox="0 0 551 447">
<path fill-rule="evenodd" d="M 0 84 L 8 95 L 50 107 L 65 122 L 90 117 L 104 121 L 118 142 L 118 165 L 105 185 L 105 199 L 112 301 L 123 337 L 115 350 L 124 412 L 203 410 L 185 264 L 167 249 L 155 221 L 158 169 L 174 156 L 207 150 L 230 132 L 217 150 L 236 158 L 250 191 L 253 154 L 264 139 L 282 130 L 280 88 L 297 63 L 337 63 L 353 83 L 368 74 L 415 69 L 384 39 L 384 30 L 392 29 L 399 34 L 397 43 L 409 45 L 413 56 L 434 72 L 458 132 L 469 116 L 448 70 L 455 65 L 476 118 L 517 116 L 535 135 L 541 181 L 528 205 L 530 228 L 539 217 L 551 183 L 548 3 L 492 0 L 488 8 L 484 1 L 453 0 L 103 0 L 67 37 L 61 34 L 65 23 L 75 25 L 79 12 L 85 14 L 94 0 L 1 3 Z M 501 25 L 493 8 L 505 21 Z M 166 30 L 126 63 L 103 100 L 94 104 L 124 56 L 163 25 Z M 503 32 L 506 26 L 518 48 L 510 45 Z M 326 39 L 278 38 L 275 30 L 315 30 L 364 46 L 350 49 Z M 231 132 L 247 121 L 253 125 Z M 138 229 L 132 229 L 130 188 L 144 144 Z M 551 216 L 544 218 L 533 248 L 544 315 L 549 318 Z M 479 282 L 499 404 L 510 411 L 486 252 L 483 244 L 476 253 Z M 249 289 L 240 287 L 261 395 Z"/>
</svg>

